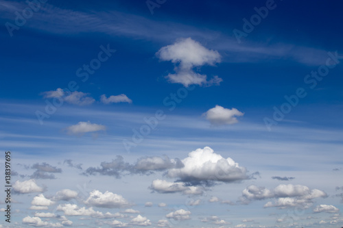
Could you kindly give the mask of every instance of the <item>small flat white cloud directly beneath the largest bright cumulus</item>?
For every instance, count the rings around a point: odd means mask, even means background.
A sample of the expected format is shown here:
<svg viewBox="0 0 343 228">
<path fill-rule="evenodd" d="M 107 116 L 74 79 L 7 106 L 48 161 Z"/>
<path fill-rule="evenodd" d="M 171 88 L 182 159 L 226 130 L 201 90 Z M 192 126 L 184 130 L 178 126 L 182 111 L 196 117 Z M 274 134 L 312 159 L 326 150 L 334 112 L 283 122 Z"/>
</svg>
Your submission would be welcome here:
<svg viewBox="0 0 343 228">
<path fill-rule="evenodd" d="M 150 189 L 159 193 L 202 194 L 204 192 L 203 188 L 198 186 L 186 186 L 183 182 L 169 182 L 161 179 L 152 181 Z"/>
</svg>

